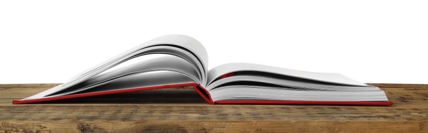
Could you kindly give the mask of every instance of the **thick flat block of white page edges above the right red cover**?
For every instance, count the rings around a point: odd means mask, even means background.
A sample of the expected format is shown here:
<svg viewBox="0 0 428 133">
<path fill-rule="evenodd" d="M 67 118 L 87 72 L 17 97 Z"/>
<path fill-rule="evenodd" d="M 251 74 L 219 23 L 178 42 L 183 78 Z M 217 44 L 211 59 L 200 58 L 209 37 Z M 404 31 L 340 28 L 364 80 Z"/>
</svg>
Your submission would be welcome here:
<svg viewBox="0 0 428 133">
<path fill-rule="evenodd" d="M 232 85 L 211 90 L 213 101 L 218 100 L 290 100 L 290 101 L 379 101 L 388 98 L 384 91 L 296 91 L 284 88 Z"/>
</svg>

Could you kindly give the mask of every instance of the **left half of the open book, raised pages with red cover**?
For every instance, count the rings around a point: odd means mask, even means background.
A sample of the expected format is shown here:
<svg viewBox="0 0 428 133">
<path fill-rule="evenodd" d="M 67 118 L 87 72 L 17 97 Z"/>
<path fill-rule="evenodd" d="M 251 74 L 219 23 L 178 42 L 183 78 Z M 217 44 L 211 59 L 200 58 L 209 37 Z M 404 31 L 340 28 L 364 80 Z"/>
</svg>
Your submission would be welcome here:
<svg viewBox="0 0 428 133">
<path fill-rule="evenodd" d="M 142 57 L 152 58 L 138 60 Z M 184 35 L 161 36 L 106 60 L 64 84 L 13 103 L 206 84 L 207 62 L 207 52 L 197 40 Z"/>
</svg>

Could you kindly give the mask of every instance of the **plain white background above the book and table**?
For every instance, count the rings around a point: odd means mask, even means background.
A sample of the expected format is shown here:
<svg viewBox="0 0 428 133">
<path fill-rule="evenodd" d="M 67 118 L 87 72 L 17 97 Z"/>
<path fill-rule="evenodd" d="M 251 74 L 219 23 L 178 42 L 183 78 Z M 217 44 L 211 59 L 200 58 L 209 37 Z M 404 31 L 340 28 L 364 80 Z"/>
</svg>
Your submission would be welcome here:
<svg viewBox="0 0 428 133">
<path fill-rule="evenodd" d="M 152 38 L 252 62 L 428 83 L 427 1 L 1 1 L 0 83 L 61 83 Z"/>
</svg>

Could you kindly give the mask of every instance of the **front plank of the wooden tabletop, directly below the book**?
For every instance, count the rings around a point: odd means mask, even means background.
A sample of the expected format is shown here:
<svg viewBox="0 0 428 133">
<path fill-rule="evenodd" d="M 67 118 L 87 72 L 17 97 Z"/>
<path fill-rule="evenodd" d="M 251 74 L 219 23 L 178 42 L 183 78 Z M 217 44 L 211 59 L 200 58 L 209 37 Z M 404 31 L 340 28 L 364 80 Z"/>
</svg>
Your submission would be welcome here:
<svg viewBox="0 0 428 133">
<path fill-rule="evenodd" d="M 0 120 L 20 121 L 427 121 L 428 107 L 296 105 L 16 105 L 0 108 Z M 32 116 L 32 117 L 29 117 Z M 102 116 L 102 117 L 99 117 Z"/>
</svg>

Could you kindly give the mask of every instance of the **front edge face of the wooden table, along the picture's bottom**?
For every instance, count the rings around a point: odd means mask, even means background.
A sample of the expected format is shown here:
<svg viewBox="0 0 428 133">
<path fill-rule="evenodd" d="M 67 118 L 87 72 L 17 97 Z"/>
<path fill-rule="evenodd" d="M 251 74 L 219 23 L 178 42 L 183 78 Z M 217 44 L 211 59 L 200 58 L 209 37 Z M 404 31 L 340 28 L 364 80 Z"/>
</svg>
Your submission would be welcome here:
<svg viewBox="0 0 428 133">
<path fill-rule="evenodd" d="M 66 121 L 1 123 L 1 132 L 426 132 L 426 122 Z M 332 126 L 334 125 L 334 126 Z"/>
</svg>

